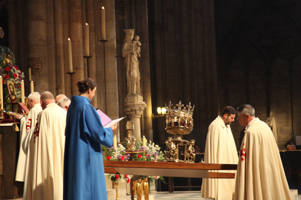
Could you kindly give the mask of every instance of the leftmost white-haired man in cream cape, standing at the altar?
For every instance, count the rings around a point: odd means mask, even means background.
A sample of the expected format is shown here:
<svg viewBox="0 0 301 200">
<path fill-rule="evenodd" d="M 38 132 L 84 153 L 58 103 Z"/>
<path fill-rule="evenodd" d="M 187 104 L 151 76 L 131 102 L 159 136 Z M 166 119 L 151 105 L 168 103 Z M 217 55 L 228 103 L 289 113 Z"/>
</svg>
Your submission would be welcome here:
<svg viewBox="0 0 301 200">
<path fill-rule="evenodd" d="M 26 154 L 22 149 L 23 139 L 29 132 L 29 129 L 36 126 L 38 114 L 42 111 L 39 92 L 33 92 L 28 96 L 28 106 L 30 111 L 26 117 L 16 116 L 16 119 L 20 119 L 20 151 L 15 179 L 17 181 L 24 181 L 25 177 Z"/>
</svg>

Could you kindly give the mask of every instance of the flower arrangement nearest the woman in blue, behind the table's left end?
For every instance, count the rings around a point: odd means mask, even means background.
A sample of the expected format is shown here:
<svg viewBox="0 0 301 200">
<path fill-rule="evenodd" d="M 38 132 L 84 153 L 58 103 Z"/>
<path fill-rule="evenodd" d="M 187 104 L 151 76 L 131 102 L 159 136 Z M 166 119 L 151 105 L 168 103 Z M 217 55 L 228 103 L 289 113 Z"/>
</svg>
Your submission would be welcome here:
<svg viewBox="0 0 301 200">
<path fill-rule="evenodd" d="M 116 149 L 115 146 L 107 148 L 102 146 L 104 151 L 107 153 L 107 156 L 104 157 L 104 160 L 115 160 L 115 161 L 127 161 L 129 160 L 129 154 L 126 154 L 126 148 L 122 144 L 118 144 Z M 125 182 L 129 183 L 131 181 L 132 175 L 127 174 L 109 174 L 108 178 L 112 181 Z"/>
</svg>

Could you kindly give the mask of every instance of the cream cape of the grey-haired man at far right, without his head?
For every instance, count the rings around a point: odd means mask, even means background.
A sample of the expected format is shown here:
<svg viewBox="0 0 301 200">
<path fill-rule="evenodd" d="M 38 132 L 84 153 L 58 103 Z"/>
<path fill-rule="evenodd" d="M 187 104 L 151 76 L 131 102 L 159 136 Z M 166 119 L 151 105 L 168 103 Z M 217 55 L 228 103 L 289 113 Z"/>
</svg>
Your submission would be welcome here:
<svg viewBox="0 0 301 200">
<path fill-rule="evenodd" d="M 258 118 L 245 130 L 233 194 L 233 200 L 253 199 L 292 199 L 274 135 Z"/>
</svg>

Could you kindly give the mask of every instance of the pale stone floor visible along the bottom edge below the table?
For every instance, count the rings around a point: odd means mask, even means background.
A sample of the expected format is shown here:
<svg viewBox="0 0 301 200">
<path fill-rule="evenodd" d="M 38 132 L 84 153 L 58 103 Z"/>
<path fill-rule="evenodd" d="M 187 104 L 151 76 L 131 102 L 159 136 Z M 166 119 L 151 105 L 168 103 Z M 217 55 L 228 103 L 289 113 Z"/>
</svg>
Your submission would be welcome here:
<svg viewBox="0 0 301 200">
<path fill-rule="evenodd" d="M 191 191 L 191 192 L 155 192 L 150 195 L 154 195 L 154 200 L 202 200 L 204 198 L 201 197 L 201 192 L 199 191 Z M 122 199 L 131 199 L 130 196 Z M 120 198 L 120 200 L 122 200 Z M 13 200 L 13 199 L 11 199 Z M 22 198 L 14 199 L 14 200 L 22 200 Z M 298 200 L 301 200 L 301 195 L 298 195 Z"/>
</svg>

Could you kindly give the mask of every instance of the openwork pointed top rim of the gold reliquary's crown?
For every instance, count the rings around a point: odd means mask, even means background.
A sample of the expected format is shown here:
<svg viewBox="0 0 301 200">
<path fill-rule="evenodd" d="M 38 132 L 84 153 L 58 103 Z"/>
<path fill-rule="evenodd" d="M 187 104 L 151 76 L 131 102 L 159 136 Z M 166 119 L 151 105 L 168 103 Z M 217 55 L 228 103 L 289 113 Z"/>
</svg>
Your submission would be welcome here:
<svg viewBox="0 0 301 200">
<path fill-rule="evenodd" d="M 173 106 L 171 101 L 169 101 L 169 105 L 166 106 L 165 104 L 165 109 L 166 109 L 165 113 L 166 115 L 176 114 L 180 116 L 192 117 L 194 106 L 191 107 L 191 102 L 189 102 L 189 105 L 186 105 L 186 107 L 184 108 L 183 107 L 184 104 L 182 104 L 181 101 L 179 102 L 179 104 L 176 104 L 175 106 Z"/>
</svg>

